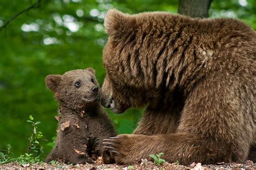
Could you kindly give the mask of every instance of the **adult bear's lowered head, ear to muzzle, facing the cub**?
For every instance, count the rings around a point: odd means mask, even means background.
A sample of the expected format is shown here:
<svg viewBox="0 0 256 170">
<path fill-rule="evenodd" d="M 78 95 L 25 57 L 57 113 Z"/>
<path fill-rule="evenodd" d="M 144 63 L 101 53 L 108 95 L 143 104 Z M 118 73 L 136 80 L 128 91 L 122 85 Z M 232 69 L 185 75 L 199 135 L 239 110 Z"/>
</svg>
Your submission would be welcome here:
<svg viewBox="0 0 256 170">
<path fill-rule="evenodd" d="M 136 16 L 112 9 L 105 17 L 104 25 L 109 38 L 103 50 L 106 76 L 100 102 L 116 113 L 146 104 L 144 74 L 138 70 L 139 59 L 133 48 L 133 43 L 137 41 Z"/>
</svg>

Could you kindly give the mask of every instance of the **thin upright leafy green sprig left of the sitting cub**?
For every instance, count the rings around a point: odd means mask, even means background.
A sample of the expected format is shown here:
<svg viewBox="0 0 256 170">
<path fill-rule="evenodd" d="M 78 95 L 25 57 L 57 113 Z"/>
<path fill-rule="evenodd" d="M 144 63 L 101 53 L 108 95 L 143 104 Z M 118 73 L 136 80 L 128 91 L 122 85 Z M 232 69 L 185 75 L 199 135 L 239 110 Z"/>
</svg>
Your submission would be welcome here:
<svg viewBox="0 0 256 170">
<path fill-rule="evenodd" d="M 37 130 L 37 125 L 41 122 L 34 122 L 33 116 L 29 115 L 29 119 L 26 122 L 31 123 L 32 126 L 32 132 L 30 137 L 28 137 L 28 148 L 26 150 L 27 154 L 32 154 L 35 157 L 38 157 L 40 153 L 43 153 L 43 146 L 39 143 L 39 139 L 43 137 L 43 134 L 41 131 Z"/>
</svg>

